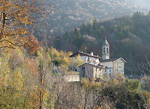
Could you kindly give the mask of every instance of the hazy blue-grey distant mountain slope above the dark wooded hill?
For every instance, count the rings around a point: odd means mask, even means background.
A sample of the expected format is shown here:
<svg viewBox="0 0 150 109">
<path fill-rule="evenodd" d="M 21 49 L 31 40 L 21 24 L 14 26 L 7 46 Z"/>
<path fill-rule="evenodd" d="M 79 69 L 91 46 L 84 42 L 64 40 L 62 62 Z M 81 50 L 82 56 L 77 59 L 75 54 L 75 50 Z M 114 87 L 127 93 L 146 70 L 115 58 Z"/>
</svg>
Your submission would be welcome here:
<svg viewBox="0 0 150 109">
<path fill-rule="evenodd" d="M 55 13 L 47 20 L 51 36 L 60 35 L 94 17 L 103 21 L 150 10 L 149 0 L 50 0 L 50 4 L 55 8 Z"/>
</svg>

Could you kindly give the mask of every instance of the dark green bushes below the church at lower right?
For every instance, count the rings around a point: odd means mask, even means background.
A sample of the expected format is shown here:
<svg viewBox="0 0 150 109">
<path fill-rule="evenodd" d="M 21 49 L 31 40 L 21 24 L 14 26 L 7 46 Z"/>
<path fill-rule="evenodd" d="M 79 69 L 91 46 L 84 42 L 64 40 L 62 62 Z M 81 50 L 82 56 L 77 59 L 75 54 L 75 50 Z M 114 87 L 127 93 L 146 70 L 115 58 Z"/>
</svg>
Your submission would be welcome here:
<svg viewBox="0 0 150 109">
<path fill-rule="evenodd" d="M 125 82 L 119 81 L 119 78 L 115 78 L 105 83 L 102 85 L 103 89 L 99 94 L 102 94 L 102 97 L 104 98 L 108 97 L 117 109 L 124 109 L 126 107 L 135 109 L 143 108 L 144 99 L 143 94 L 141 94 L 141 91 L 139 90 L 139 81 L 131 79 L 126 79 Z M 149 93 L 146 94 L 149 95 Z"/>
</svg>

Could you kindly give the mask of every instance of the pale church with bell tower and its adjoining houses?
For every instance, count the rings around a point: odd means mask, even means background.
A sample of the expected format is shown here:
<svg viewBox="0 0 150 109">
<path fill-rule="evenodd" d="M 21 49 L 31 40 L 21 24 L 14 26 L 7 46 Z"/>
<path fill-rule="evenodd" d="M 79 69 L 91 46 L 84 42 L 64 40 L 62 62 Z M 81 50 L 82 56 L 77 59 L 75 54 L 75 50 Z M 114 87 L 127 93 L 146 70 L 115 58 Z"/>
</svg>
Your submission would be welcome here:
<svg viewBox="0 0 150 109">
<path fill-rule="evenodd" d="M 110 44 L 107 39 L 102 45 L 102 57 L 94 55 L 93 52 L 90 54 L 82 51 L 72 54 L 72 61 L 76 60 L 76 57 L 80 55 L 81 59 L 85 61 L 83 65 L 78 66 L 77 71 L 81 78 L 100 78 L 103 79 L 105 75 L 108 77 L 115 77 L 115 75 L 121 73 L 124 75 L 124 66 L 126 61 L 120 58 L 110 58 Z"/>
</svg>

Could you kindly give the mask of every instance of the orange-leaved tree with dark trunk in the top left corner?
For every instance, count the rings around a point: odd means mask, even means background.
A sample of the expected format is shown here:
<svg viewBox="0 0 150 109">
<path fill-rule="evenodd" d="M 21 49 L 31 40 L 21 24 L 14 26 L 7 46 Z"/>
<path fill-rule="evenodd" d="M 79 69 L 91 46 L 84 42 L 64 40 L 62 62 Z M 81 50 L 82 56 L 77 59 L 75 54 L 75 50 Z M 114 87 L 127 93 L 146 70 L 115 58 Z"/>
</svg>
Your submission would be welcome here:
<svg viewBox="0 0 150 109">
<path fill-rule="evenodd" d="M 42 0 L 0 1 L 0 48 L 24 46 L 31 24 L 41 16 Z"/>
</svg>

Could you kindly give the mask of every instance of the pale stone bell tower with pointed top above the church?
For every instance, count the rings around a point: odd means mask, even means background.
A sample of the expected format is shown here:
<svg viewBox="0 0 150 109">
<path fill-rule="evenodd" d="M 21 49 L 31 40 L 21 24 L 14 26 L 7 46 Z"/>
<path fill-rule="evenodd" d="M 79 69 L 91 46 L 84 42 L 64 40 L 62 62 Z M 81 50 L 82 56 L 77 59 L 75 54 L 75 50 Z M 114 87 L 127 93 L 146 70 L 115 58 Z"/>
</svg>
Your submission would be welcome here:
<svg viewBox="0 0 150 109">
<path fill-rule="evenodd" d="M 109 59 L 110 58 L 110 46 L 109 43 L 105 37 L 105 41 L 102 45 L 102 59 Z"/>
</svg>

